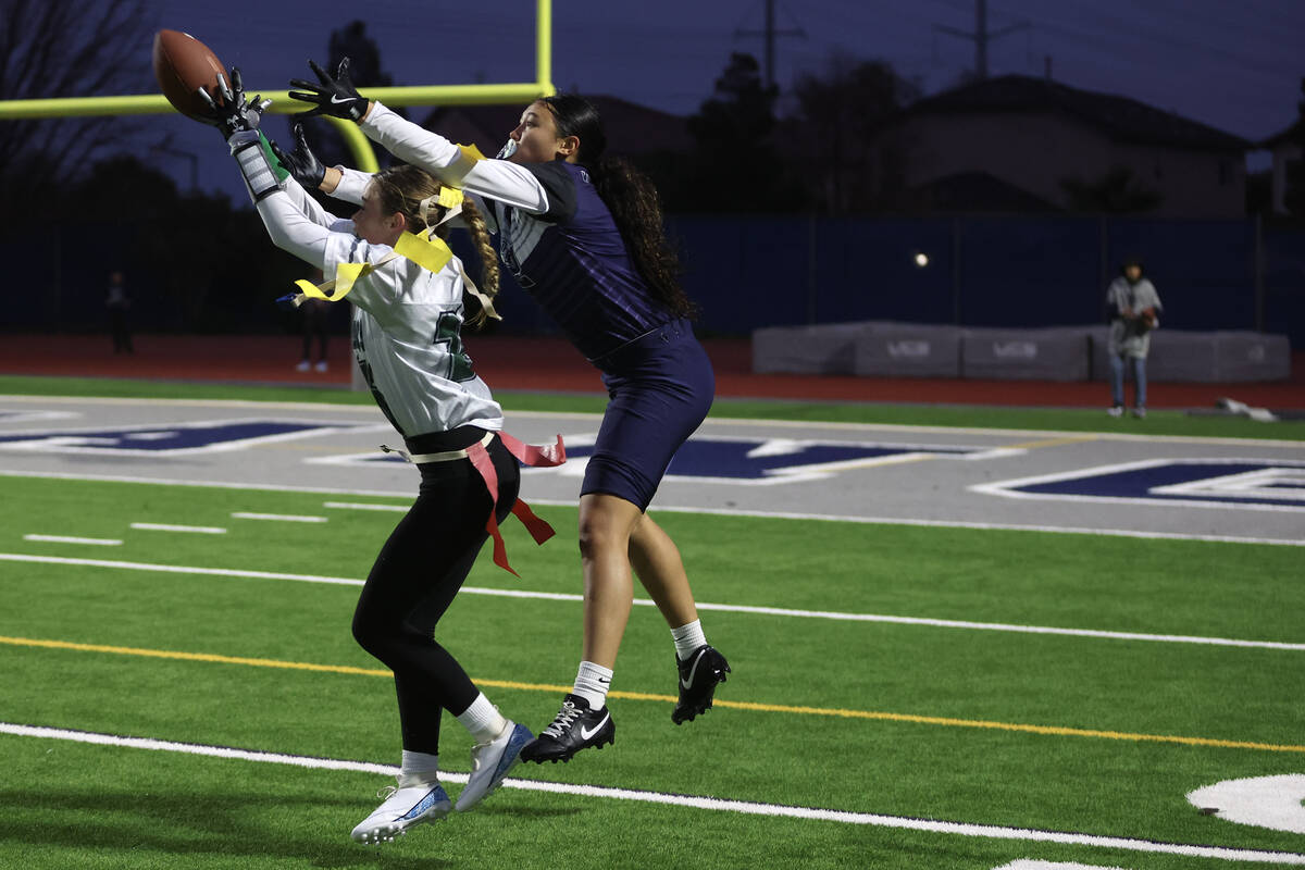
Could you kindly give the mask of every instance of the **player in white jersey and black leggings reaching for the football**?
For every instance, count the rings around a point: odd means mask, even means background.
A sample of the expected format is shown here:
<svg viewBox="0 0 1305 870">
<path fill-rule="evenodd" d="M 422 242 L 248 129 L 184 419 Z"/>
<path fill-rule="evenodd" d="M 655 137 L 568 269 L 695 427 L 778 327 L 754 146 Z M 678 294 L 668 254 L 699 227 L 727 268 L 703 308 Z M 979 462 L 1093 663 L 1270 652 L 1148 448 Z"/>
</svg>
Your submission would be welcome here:
<svg viewBox="0 0 1305 870">
<path fill-rule="evenodd" d="M 352 831 L 355 840 L 381 843 L 453 809 L 437 776 L 444 710 L 475 740 L 474 770 L 458 810 L 497 788 L 532 737 L 489 703 L 433 637 L 485 539 L 497 535 L 496 522 L 517 501 L 519 470 L 500 432 L 502 410 L 462 351 L 462 265 L 452 257 L 432 271 L 394 256 L 405 233 L 424 233 L 446 214 L 438 205 L 440 183 L 411 166 L 385 170 L 361 188 L 352 219 L 335 218 L 292 176 L 278 177 L 256 129 L 265 104 L 245 100 L 239 70 L 231 80 L 234 87 L 215 107 L 218 128 L 258 215 L 278 248 L 322 269 L 328 279 L 354 277 L 348 300 L 358 363 L 422 475 L 418 498 L 381 549 L 354 616 L 354 637 L 394 672 L 399 704 L 398 787 Z M 296 137 L 303 143 L 301 129 Z M 305 145 L 291 154 L 275 151 L 299 175 L 326 176 Z M 333 171 L 331 179 L 339 177 Z M 463 217 L 485 254 L 488 297 L 497 283 L 488 236 L 474 207 Z M 419 244 L 425 244 L 420 236 Z"/>
</svg>

